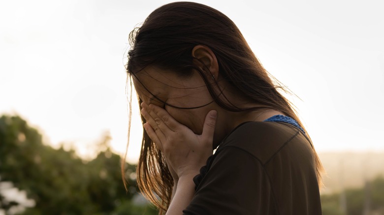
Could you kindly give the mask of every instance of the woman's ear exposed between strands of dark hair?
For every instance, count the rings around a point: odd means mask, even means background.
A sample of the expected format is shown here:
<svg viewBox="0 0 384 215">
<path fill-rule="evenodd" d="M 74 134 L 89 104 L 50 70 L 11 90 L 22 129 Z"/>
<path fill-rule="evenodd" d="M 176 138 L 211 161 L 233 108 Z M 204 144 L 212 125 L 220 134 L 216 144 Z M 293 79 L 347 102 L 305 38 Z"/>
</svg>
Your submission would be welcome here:
<svg viewBox="0 0 384 215">
<path fill-rule="evenodd" d="M 199 59 L 209 69 L 214 79 L 219 77 L 219 64 L 210 48 L 197 45 L 192 49 L 192 57 Z"/>
</svg>

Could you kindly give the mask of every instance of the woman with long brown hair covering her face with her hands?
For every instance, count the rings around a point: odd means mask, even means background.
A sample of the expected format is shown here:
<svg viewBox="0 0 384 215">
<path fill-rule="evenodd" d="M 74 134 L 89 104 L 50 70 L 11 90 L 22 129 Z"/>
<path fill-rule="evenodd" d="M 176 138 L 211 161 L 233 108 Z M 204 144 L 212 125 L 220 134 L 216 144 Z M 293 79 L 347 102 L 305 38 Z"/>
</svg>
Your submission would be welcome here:
<svg viewBox="0 0 384 215">
<path fill-rule="evenodd" d="M 229 18 L 174 2 L 130 42 L 145 129 L 137 182 L 160 214 L 321 214 L 312 142 Z"/>
</svg>

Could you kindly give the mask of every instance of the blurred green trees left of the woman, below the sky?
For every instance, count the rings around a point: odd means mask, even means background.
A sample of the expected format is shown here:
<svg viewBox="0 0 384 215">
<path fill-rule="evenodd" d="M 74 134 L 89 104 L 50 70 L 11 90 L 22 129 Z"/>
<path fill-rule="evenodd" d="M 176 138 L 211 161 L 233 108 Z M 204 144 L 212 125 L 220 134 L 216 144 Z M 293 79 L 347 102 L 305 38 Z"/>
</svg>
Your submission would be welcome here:
<svg viewBox="0 0 384 215">
<path fill-rule="evenodd" d="M 127 192 L 121 178 L 121 158 L 110 151 L 109 140 L 105 135 L 97 144 L 102 149 L 97 157 L 84 161 L 74 150 L 45 145 L 41 134 L 19 116 L 3 115 L 0 180 L 12 182 L 34 200 L 35 207 L 27 208 L 25 215 L 140 214 L 147 206 L 131 203 L 137 194 L 136 182 L 128 177 Z M 126 163 L 126 172 L 134 174 L 135 166 Z M 0 209 L 8 211 L 17 204 L 7 201 L 0 190 Z"/>
</svg>

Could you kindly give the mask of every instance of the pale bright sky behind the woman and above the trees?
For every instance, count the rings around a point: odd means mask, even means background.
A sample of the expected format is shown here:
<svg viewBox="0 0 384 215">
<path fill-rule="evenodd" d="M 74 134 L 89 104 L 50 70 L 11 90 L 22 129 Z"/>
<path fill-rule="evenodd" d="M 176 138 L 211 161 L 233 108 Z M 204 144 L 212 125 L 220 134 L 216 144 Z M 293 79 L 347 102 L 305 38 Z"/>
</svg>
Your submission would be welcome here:
<svg viewBox="0 0 384 215">
<path fill-rule="evenodd" d="M 82 155 L 103 132 L 127 142 L 128 33 L 164 0 L 15 0 L 0 6 L 0 114 Z M 205 0 L 232 19 L 266 69 L 302 101 L 318 151 L 384 150 L 384 3 Z M 134 103 L 136 105 L 136 103 Z M 142 134 L 137 107 L 130 162 Z"/>
</svg>

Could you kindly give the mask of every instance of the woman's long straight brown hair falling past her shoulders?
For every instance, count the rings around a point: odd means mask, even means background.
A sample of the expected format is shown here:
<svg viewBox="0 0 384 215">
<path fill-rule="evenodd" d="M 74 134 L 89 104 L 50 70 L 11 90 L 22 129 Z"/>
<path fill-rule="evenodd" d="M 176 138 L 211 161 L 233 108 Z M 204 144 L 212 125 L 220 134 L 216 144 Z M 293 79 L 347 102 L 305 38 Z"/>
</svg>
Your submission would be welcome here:
<svg viewBox="0 0 384 215">
<path fill-rule="evenodd" d="M 258 104 L 283 112 L 304 128 L 292 104 L 279 92 L 286 89 L 264 69 L 236 25 L 216 9 L 193 2 L 163 5 L 129 34 L 129 42 L 130 87 L 131 76 L 149 65 L 186 76 L 196 70 L 219 106 L 230 111 L 250 110 L 235 107 L 225 97 L 219 97 L 221 92 L 208 81 L 208 69 L 199 66 L 192 57 L 193 47 L 203 45 L 216 55 L 220 76 L 234 89 Z M 145 123 L 143 117 L 142 123 Z M 315 150 L 313 154 L 320 183 L 322 166 Z M 164 213 L 170 204 L 173 180 L 163 155 L 145 130 L 137 164 L 137 183 L 142 193 L 159 207 L 160 214 Z"/>
</svg>

